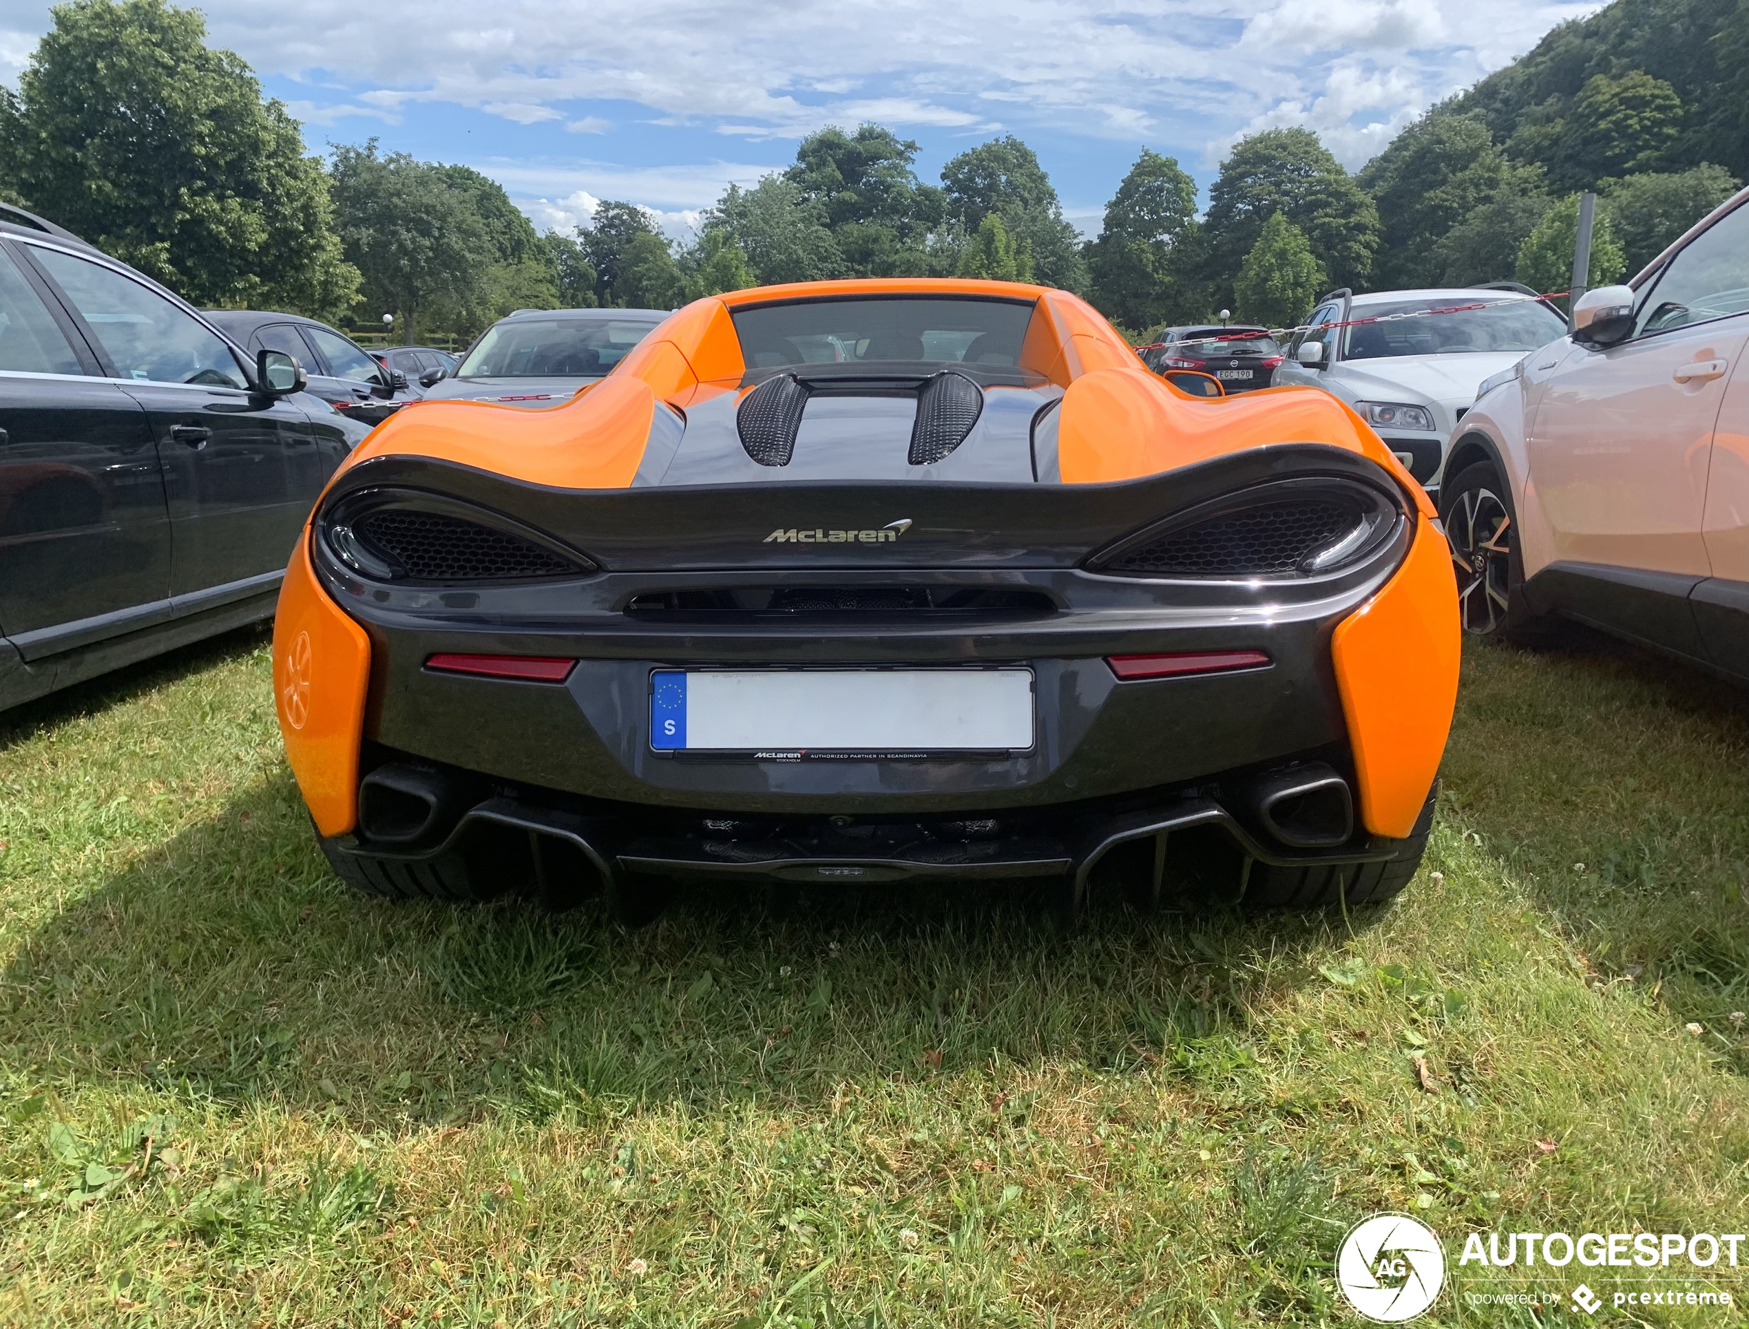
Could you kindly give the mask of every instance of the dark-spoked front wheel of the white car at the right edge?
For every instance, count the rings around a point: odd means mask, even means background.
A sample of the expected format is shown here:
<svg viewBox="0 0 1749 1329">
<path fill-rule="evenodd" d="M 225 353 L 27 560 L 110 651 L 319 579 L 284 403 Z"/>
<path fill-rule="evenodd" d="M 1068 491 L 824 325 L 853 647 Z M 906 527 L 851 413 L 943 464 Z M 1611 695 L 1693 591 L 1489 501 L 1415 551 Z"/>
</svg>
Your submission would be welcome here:
<svg viewBox="0 0 1749 1329">
<path fill-rule="evenodd" d="M 1523 596 L 1513 491 L 1492 462 L 1467 465 L 1441 486 L 1439 521 L 1452 547 L 1464 631 L 1499 642 L 1537 635 L 1543 621 Z"/>
</svg>

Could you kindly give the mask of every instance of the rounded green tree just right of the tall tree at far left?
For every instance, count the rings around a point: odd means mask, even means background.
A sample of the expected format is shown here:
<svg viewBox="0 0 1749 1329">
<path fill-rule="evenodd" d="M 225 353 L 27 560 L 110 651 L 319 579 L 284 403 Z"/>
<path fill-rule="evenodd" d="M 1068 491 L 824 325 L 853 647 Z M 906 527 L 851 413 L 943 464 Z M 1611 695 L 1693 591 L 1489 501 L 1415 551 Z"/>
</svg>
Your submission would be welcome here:
<svg viewBox="0 0 1749 1329">
<path fill-rule="evenodd" d="M 364 147 L 334 147 L 331 180 L 364 297 L 402 318 L 408 343 L 427 311 L 453 317 L 481 301 L 497 250 L 472 198 L 451 187 L 441 166 L 406 152 L 380 157 L 371 138 Z"/>
</svg>

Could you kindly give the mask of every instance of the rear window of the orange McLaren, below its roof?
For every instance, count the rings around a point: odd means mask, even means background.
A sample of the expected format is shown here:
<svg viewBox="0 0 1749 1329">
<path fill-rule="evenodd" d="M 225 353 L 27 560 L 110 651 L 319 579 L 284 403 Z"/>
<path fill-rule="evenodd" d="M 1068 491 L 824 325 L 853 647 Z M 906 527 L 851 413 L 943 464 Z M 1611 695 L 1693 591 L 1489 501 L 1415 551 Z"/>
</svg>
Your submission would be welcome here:
<svg viewBox="0 0 1749 1329">
<path fill-rule="evenodd" d="M 733 310 L 747 367 L 833 365 L 834 374 L 1014 369 L 1034 301 L 866 296 Z"/>
</svg>

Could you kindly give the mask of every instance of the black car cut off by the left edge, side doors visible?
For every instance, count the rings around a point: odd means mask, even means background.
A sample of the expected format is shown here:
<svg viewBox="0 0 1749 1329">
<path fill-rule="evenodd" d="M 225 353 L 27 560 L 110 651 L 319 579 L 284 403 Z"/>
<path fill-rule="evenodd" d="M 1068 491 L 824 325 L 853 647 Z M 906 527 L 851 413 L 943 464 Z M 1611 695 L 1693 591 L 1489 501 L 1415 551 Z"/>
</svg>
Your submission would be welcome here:
<svg viewBox="0 0 1749 1329">
<path fill-rule="evenodd" d="M 273 616 L 367 432 L 77 236 L 0 210 L 0 708 Z"/>
</svg>

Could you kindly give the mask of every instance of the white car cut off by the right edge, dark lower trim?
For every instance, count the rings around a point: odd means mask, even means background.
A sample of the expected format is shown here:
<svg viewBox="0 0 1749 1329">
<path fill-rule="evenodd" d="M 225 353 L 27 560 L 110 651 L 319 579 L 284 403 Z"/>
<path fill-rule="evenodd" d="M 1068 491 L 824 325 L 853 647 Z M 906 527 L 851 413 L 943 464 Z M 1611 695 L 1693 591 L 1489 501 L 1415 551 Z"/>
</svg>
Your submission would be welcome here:
<svg viewBox="0 0 1749 1329">
<path fill-rule="evenodd" d="M 1749 678 L 1749 191 L 1572 315 L 1452 444 L 1464 628 L 1560 614 Z"/>
</svg>

